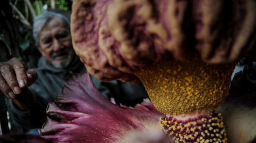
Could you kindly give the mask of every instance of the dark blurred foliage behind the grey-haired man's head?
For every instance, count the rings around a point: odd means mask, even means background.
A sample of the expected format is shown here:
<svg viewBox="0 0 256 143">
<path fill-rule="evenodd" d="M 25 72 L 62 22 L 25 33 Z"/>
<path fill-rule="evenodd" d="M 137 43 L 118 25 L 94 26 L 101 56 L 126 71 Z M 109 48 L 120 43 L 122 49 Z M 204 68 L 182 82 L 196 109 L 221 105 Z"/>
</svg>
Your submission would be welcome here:
<svg viewBox="0 0 256 143">
<path fill-rule="evenodd" d="M 0 61 L 17 57 L 35 68 L 40 53 L 34 47 L 33 18 L 45 11 L 71 14 L 73 0 L 0 0 Z"/>
</svg>

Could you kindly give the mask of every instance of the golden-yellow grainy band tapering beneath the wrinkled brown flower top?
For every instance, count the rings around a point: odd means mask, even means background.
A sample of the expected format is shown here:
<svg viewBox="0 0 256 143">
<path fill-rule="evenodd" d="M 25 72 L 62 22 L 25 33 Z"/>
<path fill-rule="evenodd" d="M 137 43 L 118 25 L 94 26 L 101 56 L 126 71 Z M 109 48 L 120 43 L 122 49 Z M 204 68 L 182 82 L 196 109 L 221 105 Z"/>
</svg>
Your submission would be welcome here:
<svg viewBox="0 0 256 143">
<path fill-rule="evenodd" d="M 158 111 L 177 115 L 221 105 L 235 65 L 207 64 L 194 56 L 185 62 L 171 59 L 153 63 L 136 75 Z"/>
</svg>

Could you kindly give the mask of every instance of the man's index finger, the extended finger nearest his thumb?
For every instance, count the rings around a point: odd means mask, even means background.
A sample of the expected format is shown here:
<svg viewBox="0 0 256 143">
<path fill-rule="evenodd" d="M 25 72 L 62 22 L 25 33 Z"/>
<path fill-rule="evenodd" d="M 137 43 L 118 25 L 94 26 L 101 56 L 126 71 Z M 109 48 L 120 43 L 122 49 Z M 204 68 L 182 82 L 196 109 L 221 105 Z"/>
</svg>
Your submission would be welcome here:
<svg viewBox="0 0 256 143">
<path fill-rule="evenodd" d="M 13 64 L 13 70 L 16 74 L 16 79 L 20 88 L 27 87 L 27 75 L 26 75 L 26 68 L 20 61 L 15 61 Z"/>
</svg>

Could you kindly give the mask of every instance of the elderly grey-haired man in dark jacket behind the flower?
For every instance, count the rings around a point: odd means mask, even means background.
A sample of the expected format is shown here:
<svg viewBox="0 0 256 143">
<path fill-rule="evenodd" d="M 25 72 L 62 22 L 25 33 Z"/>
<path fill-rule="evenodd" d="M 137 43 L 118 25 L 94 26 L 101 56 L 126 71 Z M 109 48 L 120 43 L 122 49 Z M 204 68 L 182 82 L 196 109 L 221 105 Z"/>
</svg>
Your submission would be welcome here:
<svg viewBox="0 0 256 143">
<path fill-rule="evenodd" d="M 85 71 L 73 50 L 70 23 L 65 16 L 47 12 L 36 17 L 33 35 L 43 55 L 38 68 L 27 70 L 17 58 L 0 63 L 0 89 L 10 98 L 8 110 L 13 123 L 24 129 L 42 127 L 47 104 L 62 91 L 65 77 L 70 72 Z M 142 84 L 92 79 L 106 98 L 114 97 L 117 103 L 135 105 L 147 97 Z"/>
</svg>

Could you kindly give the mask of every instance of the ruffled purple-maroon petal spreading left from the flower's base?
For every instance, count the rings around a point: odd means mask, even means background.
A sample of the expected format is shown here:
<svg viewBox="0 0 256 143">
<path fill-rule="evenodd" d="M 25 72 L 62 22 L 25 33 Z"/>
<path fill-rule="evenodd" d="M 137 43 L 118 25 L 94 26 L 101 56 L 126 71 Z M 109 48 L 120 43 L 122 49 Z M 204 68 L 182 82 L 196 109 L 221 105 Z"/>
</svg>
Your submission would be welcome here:
<svg viewBox="0 0 256 143">
<path fill-rule="evenodd" d="M 169 143 L 161 134 L 163 116 L 149 100 L 136 107 L 109 102 L 94 87 L 88 73 L 71 75 L 57 96 L 57 107 L 47 107 L 47 122 L 39 130 L 42 137 L 54 142 L 81 143 Z"/>
</svg>

